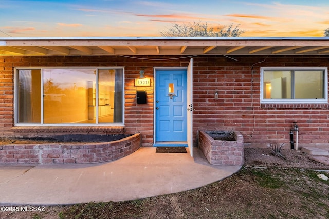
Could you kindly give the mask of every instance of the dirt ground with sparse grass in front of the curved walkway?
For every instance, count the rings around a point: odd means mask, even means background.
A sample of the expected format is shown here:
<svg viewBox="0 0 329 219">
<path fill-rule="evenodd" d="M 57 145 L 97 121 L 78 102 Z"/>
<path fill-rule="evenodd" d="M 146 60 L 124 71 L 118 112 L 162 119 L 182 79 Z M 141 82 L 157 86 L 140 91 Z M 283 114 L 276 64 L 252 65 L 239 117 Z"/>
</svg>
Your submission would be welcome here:
<svg viewBox="0 0 329 219">
<path fill-rule="evenodd" d="M 328 165 L 301 151 L 245 148 L 241 171 L 175 194 L 125 202 L 46 206 L 45 212 L 0 212 L 0 218 L 329 218 Z"/>
</svg>

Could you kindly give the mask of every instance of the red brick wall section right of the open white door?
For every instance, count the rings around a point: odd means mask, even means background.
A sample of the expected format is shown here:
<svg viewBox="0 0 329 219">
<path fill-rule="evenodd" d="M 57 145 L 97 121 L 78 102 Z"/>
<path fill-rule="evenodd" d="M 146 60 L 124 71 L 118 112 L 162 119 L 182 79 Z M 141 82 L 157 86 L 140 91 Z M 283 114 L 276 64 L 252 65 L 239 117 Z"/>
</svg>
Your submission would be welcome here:
<svg viewBox="0 0 329 219">
<path fill-rule="evenodd" d="M 327 67 L 329 65 L 327 57 L 234 56 L 234 58 L 239 61 L 220 56 L 195 58 L 193 98 L 196 109 L 193 114 L 195 132 L 233 130 L 243 134 L 245 146 L 264 147 L 269 142 L 279 141 L 287 143 L 286 147 L 290 147 L 289 130 L 293 122 L 297 122 L 300 147 L 309 144 L 318 147 L 328 146 L 329 135 L 326 132 L 329 130 L 328 104 L 260 104 L 260 67 Z M 253 66 L 252 75 L 251 66 L 258 62 L 262 63 Z M 213 98 L 215 90 L 218 91 L 218 99 Z"/>
</svg>

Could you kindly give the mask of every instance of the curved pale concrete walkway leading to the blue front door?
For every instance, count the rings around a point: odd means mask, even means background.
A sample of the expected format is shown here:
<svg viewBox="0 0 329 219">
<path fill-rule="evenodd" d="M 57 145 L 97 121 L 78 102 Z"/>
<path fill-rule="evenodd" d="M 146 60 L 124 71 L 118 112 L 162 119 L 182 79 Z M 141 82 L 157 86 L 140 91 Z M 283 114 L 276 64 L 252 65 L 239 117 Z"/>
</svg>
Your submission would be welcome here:
<svg viewBox="0 0 329 219">
<path fill-rule="evenodd" d="M 0 206 L 134 200 L 198 188 L 241 168 L 210 165 L 198 148 L 194 157 L 155 150 L 142 147 L 98 165 L 2 165 Z"/>
</svg>

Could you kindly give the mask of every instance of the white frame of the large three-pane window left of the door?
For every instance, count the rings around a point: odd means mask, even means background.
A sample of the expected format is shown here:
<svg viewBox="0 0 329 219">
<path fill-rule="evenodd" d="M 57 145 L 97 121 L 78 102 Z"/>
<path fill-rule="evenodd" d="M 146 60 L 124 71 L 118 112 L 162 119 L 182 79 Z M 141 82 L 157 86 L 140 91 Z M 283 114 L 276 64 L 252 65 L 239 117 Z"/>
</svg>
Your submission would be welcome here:
<svg viewBox="0 0 329 219">
<path fill-rule="evenodd" d="M 18 78 L 17 78 L 17 71 L 18 70 L 34 70 L 40 69 L 41 70 L 41 90 L 43 90 L 43 69 L 96 69 L 97 71 L 100 69 L 122 69 L 122 79 L 123 79 L 123 90 L 122 90 L 122 122 L 120 123 L 43 123 L 43 101 L 41 102 L 41 122 L 40 123 L 19 123 L 19 107 L 18 107 Z M 123 66 L 74 66 L 74 67 L 15 67 L 14 68 L 14 125 L 15 126 L 124 126 L 124 109 L 125 109 L 125 76 L 124 72 L 125 69 Z M 98 84 L 98 77 L 96 79 L 96 84 Z M 98 95 L 98 86 L 96 90 L 96 94 Z M 41 99 L 43 99 L 43 92 L 41 92 Z M 98 98 L 97 98 L 98 99 Z M 97 100 L 98 101 L 98 100 Z M 96 109 L 98 111 L 98 109 Z"/>
</svg>

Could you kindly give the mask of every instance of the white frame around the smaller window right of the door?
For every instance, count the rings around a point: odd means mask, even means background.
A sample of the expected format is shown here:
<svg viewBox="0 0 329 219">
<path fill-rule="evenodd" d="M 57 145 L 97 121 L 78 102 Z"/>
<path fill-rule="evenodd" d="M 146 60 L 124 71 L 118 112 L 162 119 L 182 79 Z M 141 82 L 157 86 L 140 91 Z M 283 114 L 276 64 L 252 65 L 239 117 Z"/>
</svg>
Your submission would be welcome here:
<svg viewBox="0 0 329 219">
<path fill-rule="evenodd" d="M 324 98 L 323 99 L 264 99 L 264 71 L 265 70 L 286 70 L 286 71 L 293 71 L 293 70 L 303 70 L 303 71 L 314 71 L 314 70 L 321 70 L 324 71 Z M 326 104 L 328 103 L 328 68 L 327 67 L 261 67 L 261 81 L 260 81 L 260 101 L 261 103 L 278 103 L 278 104 Z"/>
</svg>

